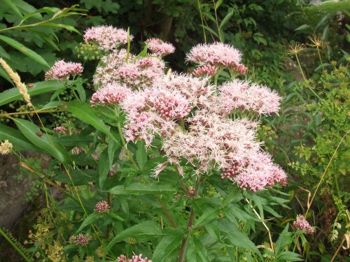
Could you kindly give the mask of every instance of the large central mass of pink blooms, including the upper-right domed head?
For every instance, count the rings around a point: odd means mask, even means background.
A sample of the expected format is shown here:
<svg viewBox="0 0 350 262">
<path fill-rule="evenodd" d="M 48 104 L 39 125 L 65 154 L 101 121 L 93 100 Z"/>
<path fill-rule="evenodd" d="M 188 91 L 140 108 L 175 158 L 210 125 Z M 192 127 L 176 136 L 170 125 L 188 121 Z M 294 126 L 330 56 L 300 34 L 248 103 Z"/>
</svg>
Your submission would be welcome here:
<svg viewBox="0 0 350 262">
<path fill-rule="evenodd" d="M 166 53 L 162 46 L 166 45 L 160 40 L 148 41 L 150 50 L 160 56 Z M 91 103 L 120 105 L 125 112 L 123 133 L 127 141 L 141 139 L 149 147 L 155 138 L 161 138 L 167 160 L 155 168 L 154 176 L 168 164 L 182 173 L 180 163 L 186 160 L 197 175 L 219 169 L 223 179 L 237 182 L 242 189 L 258 191 L 276 183 L 286 184 L 286 173 L 255 140 L 258 123 L 231 117 L 234 110 L 259 115 L 277 112 L 281 97 L 268 87 L 241 80 L 219 87 L 209 84 L 218 68 L 246 70 L 240 64 L 241 52 L 230 45 L 197 45 L 188 60 L 200 64 L 194 74 L 204 78 L 166 75 L 161 57 L 111 50 L 102 57 L 94 75 L 94 83 L 102 87 Z"/>
</svg>

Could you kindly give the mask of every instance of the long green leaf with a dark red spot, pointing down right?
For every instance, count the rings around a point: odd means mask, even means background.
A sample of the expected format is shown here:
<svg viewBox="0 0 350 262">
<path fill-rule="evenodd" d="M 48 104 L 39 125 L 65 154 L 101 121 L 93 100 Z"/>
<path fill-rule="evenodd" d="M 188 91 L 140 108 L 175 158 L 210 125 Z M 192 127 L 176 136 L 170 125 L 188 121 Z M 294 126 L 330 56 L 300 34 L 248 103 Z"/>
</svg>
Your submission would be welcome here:
<svg viewBox="0 0 350 262">
<path fill-rule="evenodd" d="M 38 136 L 37 133 L 41 133 L 38 126 L 25 119 L 15 118 L 13 121 L 31 143 L 45 150 L 45 152 L 66 165 L 71 163 L 71 157 L 69 157 L 64 147 L 57 143 L 54 137 L 46 133 L 42 133 L 41 136 Z"/>
</svg>

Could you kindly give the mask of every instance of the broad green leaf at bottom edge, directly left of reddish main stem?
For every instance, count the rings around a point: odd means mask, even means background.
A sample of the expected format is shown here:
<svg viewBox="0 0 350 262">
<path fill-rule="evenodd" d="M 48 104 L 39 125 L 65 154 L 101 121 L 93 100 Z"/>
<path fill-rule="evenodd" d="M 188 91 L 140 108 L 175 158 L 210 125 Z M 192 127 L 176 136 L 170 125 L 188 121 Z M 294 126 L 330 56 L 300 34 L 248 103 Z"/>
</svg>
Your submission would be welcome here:
<svg viewBox="0 0 350 262">
<path fill-rule="evenodd" d="M 169 258 L 179 252 L 181 241 L 186 236 L 185 228 L 176 228 L 167 231 L 165 237 L 160 240 L 155 252 L 153 253 L 152 261 L 169 261 Z"/>
</svg>

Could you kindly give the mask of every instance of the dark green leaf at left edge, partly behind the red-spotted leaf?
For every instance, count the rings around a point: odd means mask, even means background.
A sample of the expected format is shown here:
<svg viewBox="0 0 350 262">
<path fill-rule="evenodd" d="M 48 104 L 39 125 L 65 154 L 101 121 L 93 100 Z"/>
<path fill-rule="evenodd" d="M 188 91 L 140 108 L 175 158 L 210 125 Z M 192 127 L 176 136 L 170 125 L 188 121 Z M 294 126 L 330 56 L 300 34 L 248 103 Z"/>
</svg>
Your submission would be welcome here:
<svg viewBox="0 0 350 262">
<path fill-rule="evenodd" d="M 8 140 L 14 147 L 18 147 L 22 150 L 29 150 L 32 152 L 42 153 L 43 151 L 33 145 L 20 133 L 20 131 L 0 124 L 0 140 Z"/>
</svg>

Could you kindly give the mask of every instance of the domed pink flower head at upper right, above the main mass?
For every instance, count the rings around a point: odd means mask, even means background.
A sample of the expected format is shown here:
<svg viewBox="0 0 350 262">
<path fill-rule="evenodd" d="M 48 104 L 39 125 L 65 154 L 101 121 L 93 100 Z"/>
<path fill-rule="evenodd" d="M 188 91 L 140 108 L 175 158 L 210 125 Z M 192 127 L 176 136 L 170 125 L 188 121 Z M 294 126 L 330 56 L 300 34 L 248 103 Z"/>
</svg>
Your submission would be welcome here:
<svg viewBox="0 0 350 262">
<path fill-rule="evenodd" d="M 216 67 L 229 67 L 239 73 L 246 72 L 246 66 L 240 64 L 241 52 L 224 43 L 200 44 L 193 47 L 187 54 L 187 60 L 200 66 L 210 64 Z"/>
</svg>

